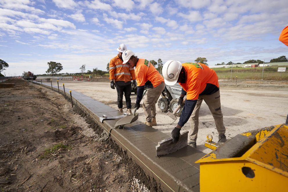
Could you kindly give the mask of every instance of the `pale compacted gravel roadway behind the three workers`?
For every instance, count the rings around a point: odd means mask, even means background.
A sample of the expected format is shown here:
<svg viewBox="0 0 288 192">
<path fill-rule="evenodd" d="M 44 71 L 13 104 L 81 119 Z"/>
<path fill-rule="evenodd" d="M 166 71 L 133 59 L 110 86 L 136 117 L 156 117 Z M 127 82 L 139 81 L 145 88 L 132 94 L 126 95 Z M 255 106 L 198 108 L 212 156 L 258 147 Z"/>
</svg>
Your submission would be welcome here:
<svg viewBox="0 0 288 192">
<path fill-rule="evenodd" d="M 100 81 L 61 81 L 59 85 L 65 84 L 65 89 L 78 91 L 110 107 L 117 109 L 116 89 L 110 88 L 110 83 Z M 57 82 L 52 81 L 53 85 Z M 288 81 L 265 81 L 265 80 L 219 80 L 221 108 L 226 137 L 230 139 L 242 132 L 255 130 L 271 125 L 285 123 L 288 106 Z M 72 92 L 73 95 L 73 92 Z M 136 94 L 131 94 L 132 107 L 136 101 Z M 141 102 L 142 106 L 143 101 Z M 123 96 L 123 112 L 125 109 L 125 97 Z M 165 112 L 161 112 L 156 106 L 157 126 L 153 128 L 170 135 L 177 125 L 179 117 L 173 121 Z M 144 111 L 137 110 L 139 121 L 145 122 Z M 189 130 L 187 122 L 181 132 Z M 205 102 L 202 103 L 199 112 L 199 132 L 197 138 L 197 149 L 209 153 L 211 150 L 204 147 L 206 135 L 211 134 L 213 141 L 218 141 L 218 133 L 213 116 Z"/>
</svg>

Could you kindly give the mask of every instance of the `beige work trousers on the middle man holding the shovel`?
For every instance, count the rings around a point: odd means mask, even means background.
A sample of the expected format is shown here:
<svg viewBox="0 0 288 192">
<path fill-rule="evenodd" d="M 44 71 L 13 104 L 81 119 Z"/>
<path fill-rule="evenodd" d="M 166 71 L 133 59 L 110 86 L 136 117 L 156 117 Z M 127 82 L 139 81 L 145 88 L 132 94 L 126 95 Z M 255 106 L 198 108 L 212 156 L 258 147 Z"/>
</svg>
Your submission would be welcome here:
<svg viewBox="0 0 288 192">
<path fill-rule="evenodd" d="M 147 122 L 152 122 L 152 118 L 155 118 L 156 116 L 156 103 L 164 87 L 165 83 L 162 82 L 157 87 L 148 88 L 147 90 L 146 97 L 143 102 L 143 109 Z"/>
</svg>

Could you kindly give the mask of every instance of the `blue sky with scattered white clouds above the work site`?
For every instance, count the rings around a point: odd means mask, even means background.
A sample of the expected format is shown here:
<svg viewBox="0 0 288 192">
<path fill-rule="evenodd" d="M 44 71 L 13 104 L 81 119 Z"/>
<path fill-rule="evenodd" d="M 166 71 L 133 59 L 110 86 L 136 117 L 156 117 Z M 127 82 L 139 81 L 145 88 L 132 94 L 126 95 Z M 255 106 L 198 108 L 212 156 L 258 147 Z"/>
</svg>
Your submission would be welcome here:
<svg viewBox="0 0 288 192">
<path fill-rule="evenodd" d="M 0 0 L 0 59 L 8 76 L 98 68 L 121 43 L 138 58 L 208 65 L 260 59 L 288 48 L 278 38 L 288 25 L 287 0 Z"/>
</svg>

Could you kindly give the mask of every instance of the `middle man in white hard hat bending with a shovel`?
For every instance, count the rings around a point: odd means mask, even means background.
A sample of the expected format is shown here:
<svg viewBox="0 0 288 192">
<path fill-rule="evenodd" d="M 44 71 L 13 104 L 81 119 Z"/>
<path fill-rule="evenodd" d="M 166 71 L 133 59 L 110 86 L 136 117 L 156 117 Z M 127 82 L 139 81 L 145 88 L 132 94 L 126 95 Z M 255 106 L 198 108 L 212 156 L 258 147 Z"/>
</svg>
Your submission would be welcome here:
<svg viewBox="0 0 288 192">
<path fill-rule="evenodd" d="M 135 67 L 137 80 L 137 98 L 135 109 L 139 109 L 145 85 L 147 85 L 147 96 L 143 102 L 143 109 L 146 115 L 146 125 L 156 126 L 156 103 L 162 93 L 165 83 L 164 78 L 155 67 L 146 59 L 138 59 L 131 50 L 126 50 L 122 54 L 123 64 L 129 65 L 130 69 Z"/>
</svg>

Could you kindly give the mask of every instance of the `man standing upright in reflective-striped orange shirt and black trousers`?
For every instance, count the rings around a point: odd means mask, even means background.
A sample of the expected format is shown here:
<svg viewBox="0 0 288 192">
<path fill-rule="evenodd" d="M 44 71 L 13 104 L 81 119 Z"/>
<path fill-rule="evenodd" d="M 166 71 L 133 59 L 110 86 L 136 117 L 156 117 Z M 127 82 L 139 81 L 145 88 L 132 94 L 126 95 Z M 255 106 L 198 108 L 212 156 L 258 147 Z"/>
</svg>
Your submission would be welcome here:
<svg viewBox="0 0 288 192">
<path fill-rule="evenodd" d="M 123 113 L 123 93 L 125 95 L 127 113 L 131 114 L 131 80 L 132 86 L 136 87 L 136 77 L 134 69 L 129 69 L 128 65 L 123 64 L 122 53 L 127 50 L 125 44 L 120 44 L 116 57 L 109 63 L 110 87 L 117 90 L 118 109 Z"/>
</svg>

